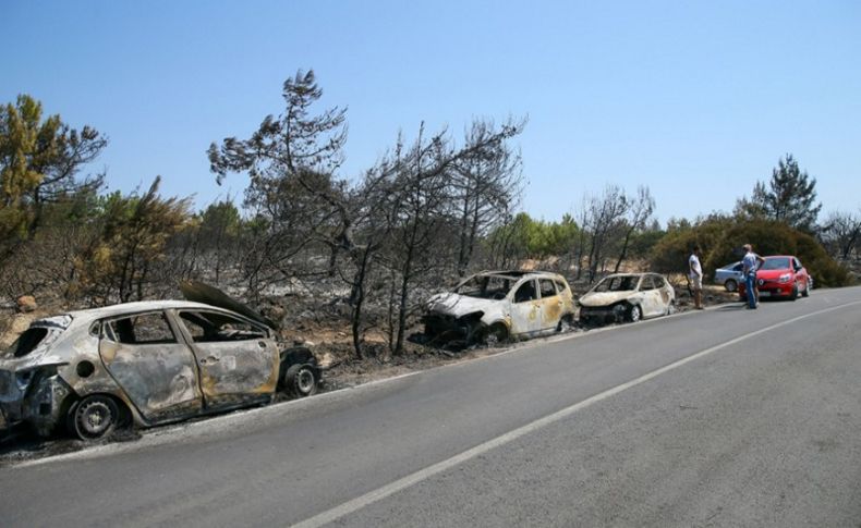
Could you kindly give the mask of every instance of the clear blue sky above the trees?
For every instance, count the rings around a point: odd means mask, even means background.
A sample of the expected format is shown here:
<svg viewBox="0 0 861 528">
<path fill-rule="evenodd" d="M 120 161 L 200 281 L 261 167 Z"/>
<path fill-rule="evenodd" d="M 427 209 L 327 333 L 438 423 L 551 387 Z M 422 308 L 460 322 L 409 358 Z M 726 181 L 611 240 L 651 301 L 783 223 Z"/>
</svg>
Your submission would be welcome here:
<svg viewBox="0 0 861 528">
<path fill-rule="evenodd" d="M 26 93 L 110 138 L 111 189 L 241 198 L 206 149 L 283 110 L 313 69 L 348 107 L 343 176 L 424 121 L 529 116 L 523 207 L 647 185 L 662 221 L 729 211 L 778 158 L 824 210 L 861 207 L 861 2 L 0 0 L 0 102 Z"/>
</svg>

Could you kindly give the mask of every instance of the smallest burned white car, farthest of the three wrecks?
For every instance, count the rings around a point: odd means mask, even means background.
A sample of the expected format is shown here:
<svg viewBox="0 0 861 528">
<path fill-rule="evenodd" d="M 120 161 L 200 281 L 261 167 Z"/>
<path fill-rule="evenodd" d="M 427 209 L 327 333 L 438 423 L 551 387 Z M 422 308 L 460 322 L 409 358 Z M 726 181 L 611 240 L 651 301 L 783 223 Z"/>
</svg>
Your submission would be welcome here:
<svg viewBox="0 0 861 528">
<path fill-rule="evenodd" d="M 636 322 L 674 311 L 676 292 L 658 273 L 618 273 L 605 277 L 578 299 L 580 321 Z"/>
</svg>

